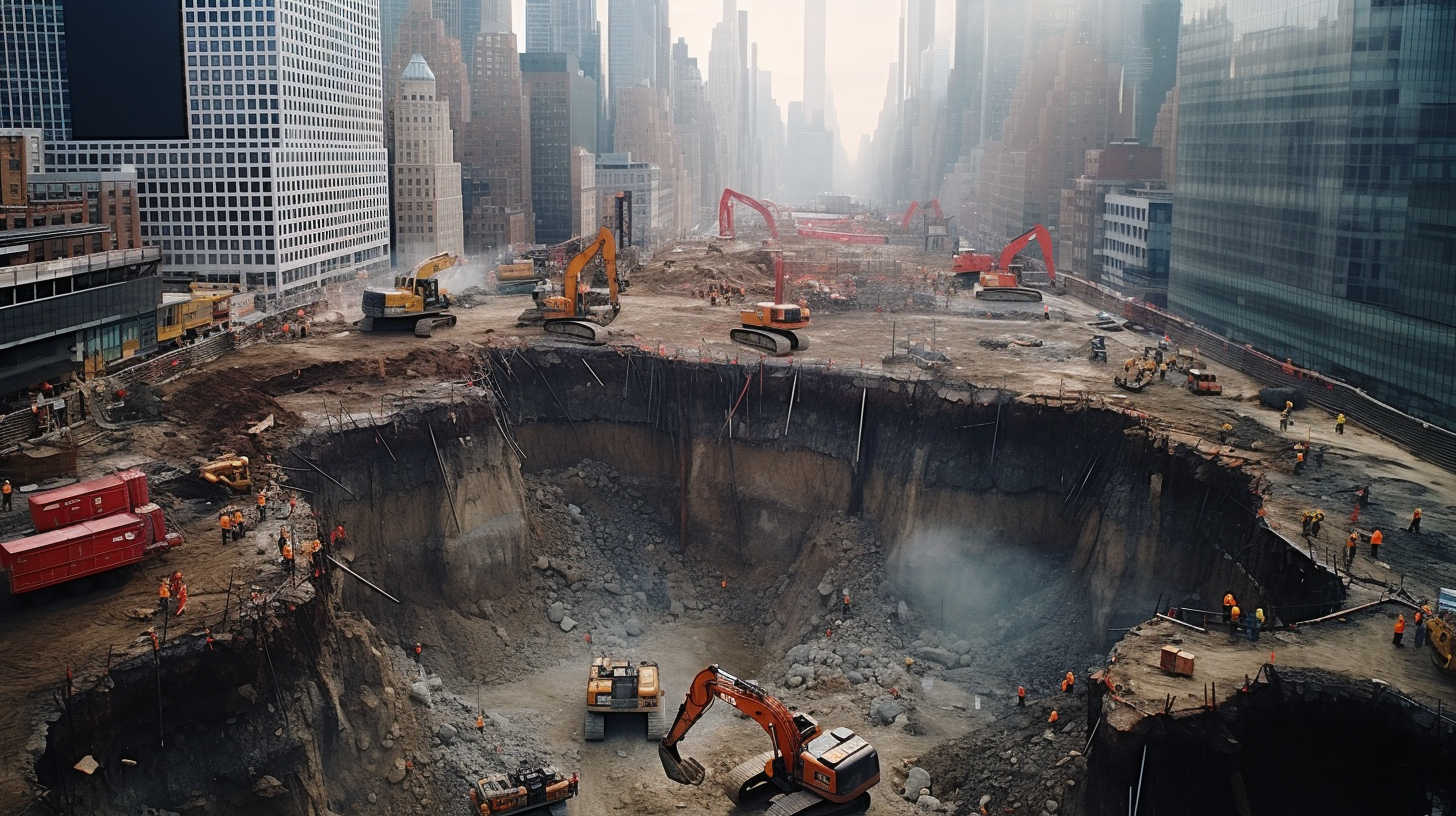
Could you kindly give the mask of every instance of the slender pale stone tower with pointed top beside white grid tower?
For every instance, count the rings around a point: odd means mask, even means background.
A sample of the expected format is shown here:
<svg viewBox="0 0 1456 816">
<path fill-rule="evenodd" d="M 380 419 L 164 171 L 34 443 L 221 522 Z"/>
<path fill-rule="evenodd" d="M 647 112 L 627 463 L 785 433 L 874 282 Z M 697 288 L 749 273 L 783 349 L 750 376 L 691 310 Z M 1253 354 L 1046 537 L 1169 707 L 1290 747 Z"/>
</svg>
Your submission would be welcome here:
<svg viewBox="0 0 1456 816">
<path fill-rule="evenodd" d="M 464 254 L 460 163 L 454 160 L 450 101 L 419 54 L 400 73 L 395 93 L 395 264 Z"/>
</svg>

